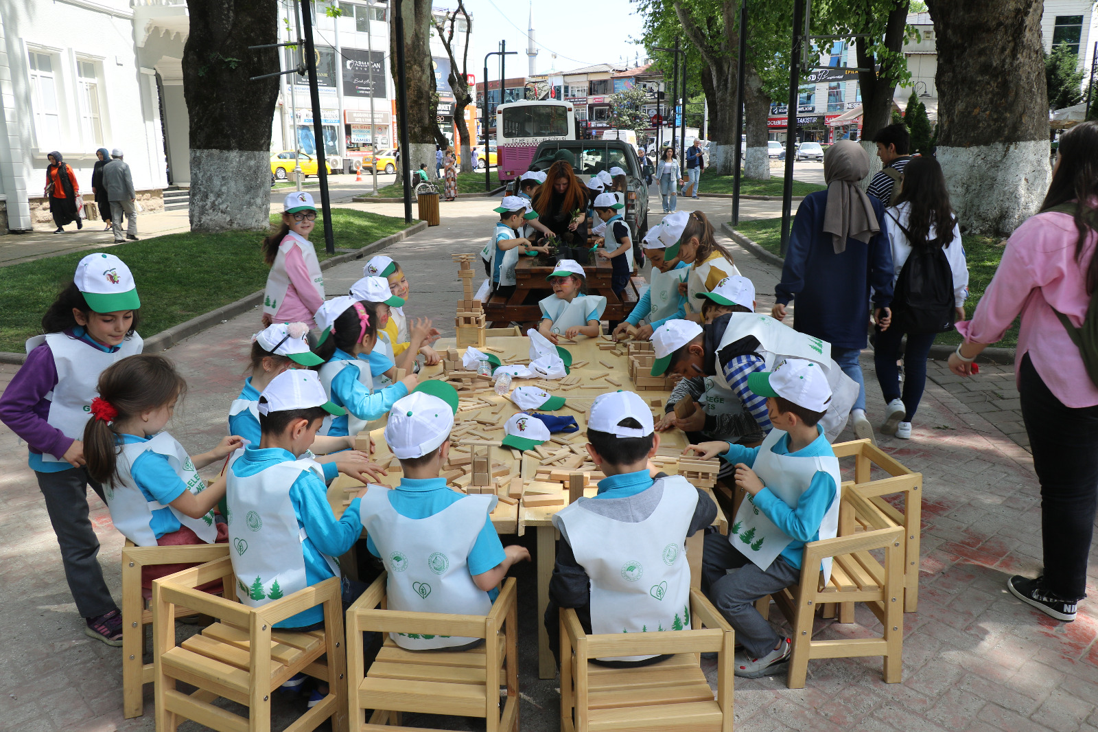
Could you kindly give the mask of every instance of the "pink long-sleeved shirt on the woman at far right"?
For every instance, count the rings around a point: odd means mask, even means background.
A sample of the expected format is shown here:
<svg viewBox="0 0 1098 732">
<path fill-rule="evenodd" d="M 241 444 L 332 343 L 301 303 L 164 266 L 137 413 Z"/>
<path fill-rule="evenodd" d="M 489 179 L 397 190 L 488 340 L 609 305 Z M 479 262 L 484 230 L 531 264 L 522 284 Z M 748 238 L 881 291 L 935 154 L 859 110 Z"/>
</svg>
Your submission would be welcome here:
<svg viewBox="0 0 1098 732">
<path fill-rule="evenodd" d="M 1052 311 L 1055 308 L 1079 325 L 1090 304 L 1086 270 L 1098 235 L 1090 232 L 1082 260 L 1075 258 L 1077 239 L 1075 221 L 1066 213 L 1030 218 L 1007 242 L 1002 262 L 972 320 L 956 324 L 966 341 L 995 343 L 1020 313 L 1016 376 L 1028 353 L 1052 393 L 1073 408 L 1098 404 L 1098 387 L 1090 381 L 1078 347 Z"/>
</svg>

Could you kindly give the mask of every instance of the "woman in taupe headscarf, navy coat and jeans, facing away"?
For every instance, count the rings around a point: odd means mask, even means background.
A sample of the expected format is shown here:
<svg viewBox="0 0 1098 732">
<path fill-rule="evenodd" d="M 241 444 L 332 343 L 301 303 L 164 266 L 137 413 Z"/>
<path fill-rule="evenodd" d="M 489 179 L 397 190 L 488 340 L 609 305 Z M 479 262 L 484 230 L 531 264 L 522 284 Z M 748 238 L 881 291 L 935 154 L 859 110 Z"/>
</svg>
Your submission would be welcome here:
<svg viewBox="0 0 1098 732">
<path fill-rule="evenodd" d="M 797 209 L 772 314 L 782 320 L 796 299 L 793 328 L 831 344 L 831 358 L 859 385 L 850 410 L 854 434 L 873 440 L 858 358 L 866 345 L 871 287 L 877 325 L 890 322 L 893 259 L 885 207 L 859 185 L 869 173 L 870 156 L 855 142 L 843 140 L 824 154 L 827 190 L 809 193 Z"/>
</svg>

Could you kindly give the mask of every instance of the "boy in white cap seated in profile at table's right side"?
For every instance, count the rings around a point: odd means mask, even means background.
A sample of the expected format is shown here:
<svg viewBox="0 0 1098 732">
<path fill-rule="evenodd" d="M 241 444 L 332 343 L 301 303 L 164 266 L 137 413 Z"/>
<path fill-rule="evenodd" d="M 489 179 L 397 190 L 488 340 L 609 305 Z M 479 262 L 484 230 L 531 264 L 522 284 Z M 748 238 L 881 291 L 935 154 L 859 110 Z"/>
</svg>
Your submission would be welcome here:
<svg viewBox="0 0 1098 732">
<path fill-rule="evenodd" d="M 747 491 L 728 536 L 705 537 L 702 589 L 736 629 L 743 646 L 737 676 L 759 678 L 788 662 L 792 643 L 778 635 L 754 602 L 800 580 L 804 546 L 839 529 L 839 461 L 818 424 L 831 400 L 819 364 L 787 358 L 773 371 L 752 374 L 751 389 L 766 398 L 774 429 L 759 447 L 726 442 L 691 445 L 684 453 L 720 454 L 736 465 Z M 831 559 L 819 567 L 824 583 Z"/>
</svg>

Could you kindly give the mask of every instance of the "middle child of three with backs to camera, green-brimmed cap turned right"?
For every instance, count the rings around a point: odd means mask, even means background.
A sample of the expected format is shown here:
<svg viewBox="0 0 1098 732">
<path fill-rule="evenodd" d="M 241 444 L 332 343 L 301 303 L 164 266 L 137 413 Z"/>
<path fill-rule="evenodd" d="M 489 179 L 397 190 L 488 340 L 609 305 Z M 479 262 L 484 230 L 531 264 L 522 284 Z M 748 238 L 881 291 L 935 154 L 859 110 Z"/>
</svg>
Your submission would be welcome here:
<svg viewBox="0 0 1098 732">
<path fill-rule="evenodd" d="M 395 488 L 370 486 L 359 508 L 367 548 L 388 570 L 389 608 L 486 615 L 496 585 L 513 564 L 529 561 L 524 546 L 503 547 L 490 513 L 495 496 L 466 496 L 439 477 L 450 451 L 458 392 L 430 380 L 389 414 L 385 444 L 401 462 Z M 483 641 L 391 633 L 411 651 L 455 650 Z"/>
</svg>

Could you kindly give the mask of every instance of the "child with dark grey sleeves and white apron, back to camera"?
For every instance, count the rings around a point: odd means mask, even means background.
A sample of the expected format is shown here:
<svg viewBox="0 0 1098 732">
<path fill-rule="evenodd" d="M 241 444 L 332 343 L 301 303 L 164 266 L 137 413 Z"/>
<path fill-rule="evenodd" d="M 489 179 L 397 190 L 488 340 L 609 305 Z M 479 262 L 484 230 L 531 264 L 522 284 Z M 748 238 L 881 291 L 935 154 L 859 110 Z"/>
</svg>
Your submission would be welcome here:
<svg viewBox="0 0 1098 732">
<path fill-rule="evenodd" d="M 605 478 L 594 498 L 553 517 L 560 530 L 545 624 L 559 657 L 560 608 L 575 608 L 587 633 L 651 633 L 690 628 L 686 537 L 717 517 L 705 492 L 664 476 L 649 458 L 660 446 L 648 404 L 631 391 L 595 399 L 587 454 Z M 645 665 L 665 656 L 600 658 Z"/>
</svg>

